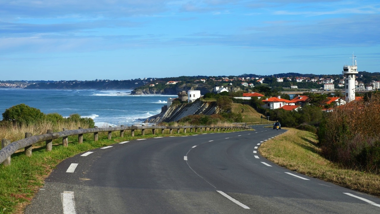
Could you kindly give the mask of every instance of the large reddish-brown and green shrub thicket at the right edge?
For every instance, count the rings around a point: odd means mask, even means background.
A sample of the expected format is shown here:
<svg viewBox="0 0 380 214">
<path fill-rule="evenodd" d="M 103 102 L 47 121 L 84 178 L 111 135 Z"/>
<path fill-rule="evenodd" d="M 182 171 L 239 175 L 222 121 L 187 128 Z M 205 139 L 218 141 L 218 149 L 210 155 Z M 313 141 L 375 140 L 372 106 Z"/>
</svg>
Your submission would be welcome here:
<svg viewBox="0 0 380 214">
<path fill-rule="evenodd" d="M 318 131 L 322 154 L 347 168 L 380 174 L 380 94 L 330 112 Z"/>
</svg>

